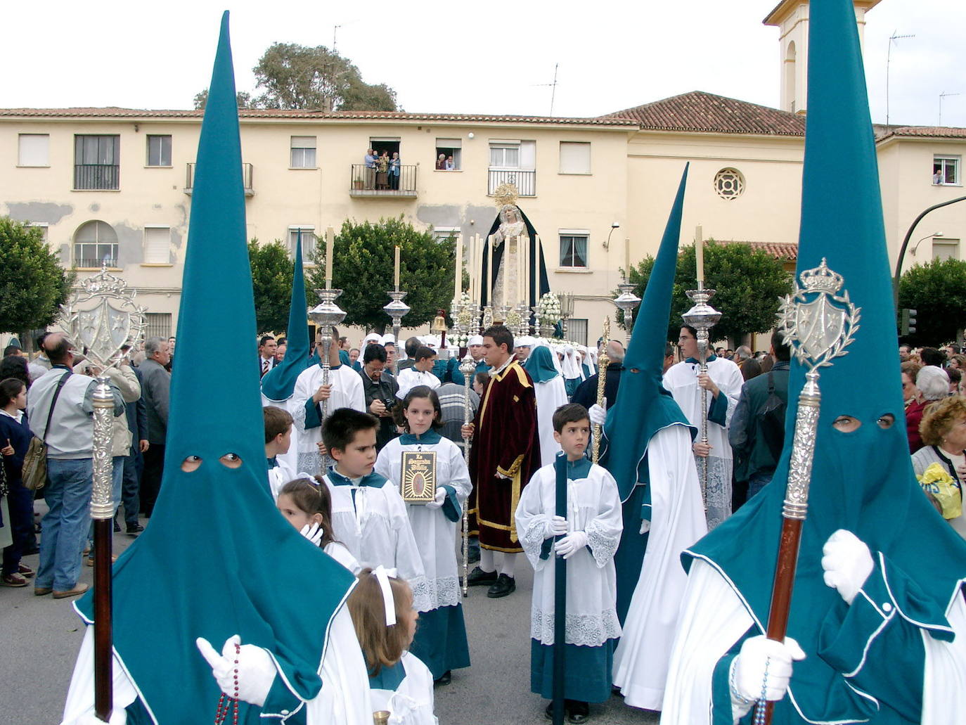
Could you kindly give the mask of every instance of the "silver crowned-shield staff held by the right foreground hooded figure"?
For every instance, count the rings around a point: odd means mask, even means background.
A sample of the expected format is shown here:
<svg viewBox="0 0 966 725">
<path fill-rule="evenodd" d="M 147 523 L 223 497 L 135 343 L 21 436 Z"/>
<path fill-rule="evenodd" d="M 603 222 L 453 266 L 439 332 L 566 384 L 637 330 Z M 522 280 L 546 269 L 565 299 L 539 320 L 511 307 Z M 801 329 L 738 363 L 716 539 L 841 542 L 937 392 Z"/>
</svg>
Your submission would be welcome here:
<svg viewBox="0 0 966 725">
<path fill-rule="evenodd" d="M 801 286 L 796 285 L 793 294 L 785 297 L 779 311 L 779 331 L 784 334 L 784 343 L 809 371 L 798 396 L 788 482 L 781 509 L 779 555 L 768 611 L 766 635 L 776 642 L 784 642 L 788 630 L 802 525 L 809 509 L 811 463 L 821 403 L 818 368 L 830 366 L 835 358 L 847 354 L 845 348 L 852 343 L 853 335 L 859 329 L 862 312 L 861 307 L 849 300 L 847 291 L 838 294 L 844 280 L 828 268 L 824 257 L 818 267 L 803 272 L 800 280 Z M 821 324 L 816 324 L 816 320 Z M 755 723 L 769 725 L 774 705 L 762 692 L 756 706 Z"/>
</svg>

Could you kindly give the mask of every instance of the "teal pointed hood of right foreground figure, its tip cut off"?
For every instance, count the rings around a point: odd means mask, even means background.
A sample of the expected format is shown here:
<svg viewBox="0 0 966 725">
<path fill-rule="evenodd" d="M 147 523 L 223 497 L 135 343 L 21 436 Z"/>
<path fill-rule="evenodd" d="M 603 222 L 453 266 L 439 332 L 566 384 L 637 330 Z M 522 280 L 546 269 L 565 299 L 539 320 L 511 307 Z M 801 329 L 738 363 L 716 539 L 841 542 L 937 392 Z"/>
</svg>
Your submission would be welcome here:
<svg viewBox="0 0 966 725">
<path fill-rule="evenodd" d="M 811 3 L 808 109 L 796 275 L 804 282 L 827 260 L 842 277 L 837 294 L 847 292 L 861 307 L 861 321 L 847 354 L 820 369 L 809 510 L 788 620 L 788 635 L 808 656 L 795 663 L 790 696 L 776 706 L 775 722 L 798 721 L 802 715 L 812 722 L 865 722 L 880 705 L 885 708 L 869 696 L 888 693 L 857 693 L 855 683 L 822 658 L 823 624 L 844 616 L 845 606 L 823 581 L 822 546 L 838 529 L 865 541 L 873 559 L 881 554 L 888 562 L 887 584 L 903 602 L 902 616 L 914 618 L 931 636 L 948 639 L 945 612 L 966 577 L 966 543 L 936 515 L 913 475 L 879 175 L 851 0 Z M 684 555 L 686 565 L 697 557 L 721 571 L 762 632 L 806 371 L 793 358 L 785 449 L 772 482 Z M 852 416 L 861 427 L 838 431 L 833 422 L 839 416 Z M 894 422 L 884 428 L 879 421 L 886 416 Z M 901 598 L 912 593 L 915 603 Z"/>
</svg>

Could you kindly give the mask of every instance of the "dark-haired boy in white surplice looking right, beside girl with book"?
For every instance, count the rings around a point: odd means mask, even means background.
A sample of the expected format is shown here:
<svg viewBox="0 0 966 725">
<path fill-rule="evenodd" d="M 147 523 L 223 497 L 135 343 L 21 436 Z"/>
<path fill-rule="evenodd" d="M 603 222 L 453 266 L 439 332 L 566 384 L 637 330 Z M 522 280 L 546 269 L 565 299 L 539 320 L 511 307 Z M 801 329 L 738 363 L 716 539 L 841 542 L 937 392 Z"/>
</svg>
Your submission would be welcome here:
<svg viewBox="0 0 966 725">
<path fill-rule="evenodd" d="M 323 480 L 332 496 L 334 538 L 361 566 L 398 569 L 412 587 L 413 607 L 432 608 L 430 587 L 412 536 L 398 484 L 373 471 L 379 420 L 350 408 L 334 411 L 322 425 L 322 440 L 335 465 Z"/>
</svg>

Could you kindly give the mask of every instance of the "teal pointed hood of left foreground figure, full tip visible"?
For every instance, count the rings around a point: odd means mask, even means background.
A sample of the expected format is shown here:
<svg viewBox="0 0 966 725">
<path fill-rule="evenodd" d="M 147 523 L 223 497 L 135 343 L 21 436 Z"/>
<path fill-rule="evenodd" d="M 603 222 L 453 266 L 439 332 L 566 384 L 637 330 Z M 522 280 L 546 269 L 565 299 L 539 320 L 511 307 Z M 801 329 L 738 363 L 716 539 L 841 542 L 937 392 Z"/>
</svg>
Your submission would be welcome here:
<svg viewBox="0 0 966 725">
<path fill-rule="evenodd" d="M 209 722 L 220 692 L 194 641 L 220 650 L 237 633 L 272 654 L 295 711 L 320 691 L 328 626 L 355 579 L 277 513 L 267 485 L 227 13 L 198 143 L 183 290 L 178 339 L 190 364 L 174 365 L 151 522 L 114 565 L 116 658 L 155 723 Z M 196 470 L 183 471 L 185 460 Z M 77 610 L 92 621 L 90 594 Z M 242 703 L 240 721 L 260 722 L 259 710 Z"/>
</svg>

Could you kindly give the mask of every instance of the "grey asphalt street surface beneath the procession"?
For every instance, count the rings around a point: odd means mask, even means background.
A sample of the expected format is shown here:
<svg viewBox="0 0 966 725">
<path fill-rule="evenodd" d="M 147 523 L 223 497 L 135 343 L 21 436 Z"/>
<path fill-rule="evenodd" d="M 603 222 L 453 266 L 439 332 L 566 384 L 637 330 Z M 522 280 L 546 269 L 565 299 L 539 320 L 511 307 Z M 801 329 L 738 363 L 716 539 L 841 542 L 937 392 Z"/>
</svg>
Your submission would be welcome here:
<svg viewBox="0 0 966 725">
<path fill-rule="evenodd" d="M 40 506 L 43 506 L 40 503 Z M 133 539 L 118 534 L 118 551 Z M 37 566 L 37 556 L 25 564 Z M 92 581 L 93 569 L 83 566 L 81 581 Z M 529 595 L 532 571 L 521 561 L 517 591 L 489 599 L 485 587 L 469 590 L 466 617 L 473 662 L 457 670 L 447 687 L 436 690 L 440 725 L 546 723 L 545 701 L 529 692 Z M 190 580 L 190 568 L 185 582 Z M 185 586 L 188 586 L 187 584 Z M 71 678 L 74 657 L 83 635 L 72 599 L 34 596 L 33 585 L 0 589 L 0 725 L 57 725 Z M 656 713 L 633 710 L 611 697 L 591 706 L 595 725 L 656 723 Z"/>
</svg>

